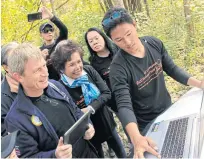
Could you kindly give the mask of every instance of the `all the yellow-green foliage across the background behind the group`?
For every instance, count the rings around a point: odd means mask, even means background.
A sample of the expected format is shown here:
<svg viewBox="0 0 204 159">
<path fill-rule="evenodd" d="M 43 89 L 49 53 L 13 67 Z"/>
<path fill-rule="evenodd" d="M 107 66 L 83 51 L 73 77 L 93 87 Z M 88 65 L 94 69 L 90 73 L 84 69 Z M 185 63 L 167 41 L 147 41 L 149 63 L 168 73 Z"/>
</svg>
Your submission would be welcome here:
<svg viewBox="0 0 204 159">
<path fill-rule="evenodd" d="M 57 8 L 65 2 L 55 0 Z M 41 21 L 27 22 L 27 14 L 37 12 L 40 0 L 2 0 L 2 44 L 10 41 L 30 41 L 36 45 L 42 43 L 39 36 Z M 204 47 L 204 1 L 192 0 L 190 5 L 193 36 L 189 37 L 184 16 L 183 0 L 148 0 L 150 17 L 142 12 L 135 13 L 137 30 L 140 36 L 151 35 L 160 38 L 175 62 L 182 67 L 190 67 L 203 62 Z M 50 5 L 47 4 L 49 8 Z M 9 14 L 8 14 L 9 13 Z M 101 27 L 104 15 L 96 0 L 69 0 L 56 10 L 56 15 L 66 24 L 69 39 L 82 44 L 85 59 L 88 57 L 84 34 L 90 27 Z M 38 24 L 36 27 L 32 27 Z M 30 28 L 32 28 L 30 30 Z M 30 31 L 29 31 L 30 30 Z M 28 32 L 29 31 L 29 32 Z M 28 32 L 28 34 L 26 34 Z M 179 57 L 179 58 L 178 58 Z"/>
</svg>

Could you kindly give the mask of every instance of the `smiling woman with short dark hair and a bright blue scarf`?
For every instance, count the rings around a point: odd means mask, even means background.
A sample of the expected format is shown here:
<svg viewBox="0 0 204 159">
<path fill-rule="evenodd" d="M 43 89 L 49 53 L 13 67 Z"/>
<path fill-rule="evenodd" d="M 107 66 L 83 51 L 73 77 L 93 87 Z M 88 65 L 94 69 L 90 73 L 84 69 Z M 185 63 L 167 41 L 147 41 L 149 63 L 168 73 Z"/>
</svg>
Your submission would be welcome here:
<svg viewBox="0 0 204 159">
<path fill-rule="evenodd" d="M 122 142 L 116 132 L 116 123 L 109 112 L 106 102 L 111 98 L 110 90 L 100 75 L 91 66 L 83 66 L 83 50 L 70 41 L 61 41 L 51 60 L 61 75 L 61 83 L 65 85 L 76 105 L 83 111 L 92 106 L 96 113 L 91 116 L 95 128 L 92 143 L 104 157 L 102 143 L 107 141 L 118 157 L 126 157 Z"/>
</svg>

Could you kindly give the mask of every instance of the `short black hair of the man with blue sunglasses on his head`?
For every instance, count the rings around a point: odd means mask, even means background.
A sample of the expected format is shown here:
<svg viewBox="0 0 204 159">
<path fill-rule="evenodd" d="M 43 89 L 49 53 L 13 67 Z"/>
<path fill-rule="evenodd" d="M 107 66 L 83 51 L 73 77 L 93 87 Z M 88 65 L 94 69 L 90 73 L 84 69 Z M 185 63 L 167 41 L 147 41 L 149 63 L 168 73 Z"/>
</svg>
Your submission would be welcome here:
<svg viewBox="0 0 204 159">
<path fill-rule="evenodd" d="M 103 25 L 103 21 L 110 18 L 113 15 L 114 12 L 120 12 L 121 16 L 117 19 L 112 19 L 110 21 L 110 23 L 108 23 L 108 25 Z M 127 10 L 125 10 L 124 8 L 119 8 L 119 7 L 114 7 L 109 9 L 105 15 L 104 18 L 102 20 L 102 26 L 103 26 L 103 30 L 106 33 L 107 36 L 110 36 L 111 31 L 116 28 L 116 26 L 118 26 L 119 24 L 122 23 L 129 23 L 129 24 L 133 24 L 133 19 L 130 16 L 130 14 L 127 12 Z"/>
</svg>

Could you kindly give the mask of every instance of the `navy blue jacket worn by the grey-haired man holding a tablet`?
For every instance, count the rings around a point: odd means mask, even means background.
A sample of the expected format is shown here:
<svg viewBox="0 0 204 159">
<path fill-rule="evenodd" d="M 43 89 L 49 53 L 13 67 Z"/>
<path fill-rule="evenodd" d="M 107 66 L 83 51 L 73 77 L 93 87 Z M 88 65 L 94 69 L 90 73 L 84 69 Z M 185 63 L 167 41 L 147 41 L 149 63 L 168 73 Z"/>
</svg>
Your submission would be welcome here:
<svg viewBox="0 0 204 159">
<path fill-rule="evenodd" d="M 68 108 L 70 109 L 73 118 L 78 120 L 83 113 L 74 104 L 69 93 L 61 83 L 54 80 L 51 80 L 50 82 L 57 86 L 61 91 L 59 92 L 56 89 L 53 89 L 49 84 L 45 90 L 47 95 L 51 98 L 68 102 Z M 31 121 L 32 116 L 38 117 L 42 122 L 42 125 L 34 125 Z M 59 138 L 45 115 L 33 105 L 31 100 L 24 94 L 22 86 L 19 87 L 18 95 L 6 116 L 5 125 L 8 132 L 20 130 L 20 135 L 16 141 L 16 151 L 19 157 L 55 157 L 55 149 Z"/>
</svg>

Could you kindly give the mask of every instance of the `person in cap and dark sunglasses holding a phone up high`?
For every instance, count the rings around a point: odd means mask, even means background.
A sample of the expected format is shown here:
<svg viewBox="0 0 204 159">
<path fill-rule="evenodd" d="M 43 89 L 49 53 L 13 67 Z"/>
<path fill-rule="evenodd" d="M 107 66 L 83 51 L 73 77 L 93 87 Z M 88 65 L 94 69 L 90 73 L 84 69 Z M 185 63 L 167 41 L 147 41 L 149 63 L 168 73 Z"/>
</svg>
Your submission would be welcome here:
<svg viewBox="0 0 204 159">
<path fill-rule="evenodd" d="M 42 19 L 49 19 L 59 29 L 59 36 L 55 39 L 55 28 L 52 23 L 45 22 L 39 28 L 40 36 L 44 41 L 43 45 L 40 47 L 40 50 L 47 60 L 49 78 L 59 80 L 59 74 L 50 62 L 50 55 L 61 40 L 65 40 L 68 38 L 68 29 L 62 23 L 62 21 L 55 15 L 53 15 L 46 7 L 40 8 L 40 12 L 42 12 Z"/>
</svg>

